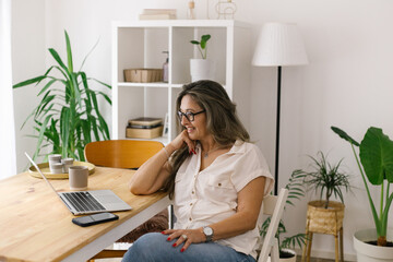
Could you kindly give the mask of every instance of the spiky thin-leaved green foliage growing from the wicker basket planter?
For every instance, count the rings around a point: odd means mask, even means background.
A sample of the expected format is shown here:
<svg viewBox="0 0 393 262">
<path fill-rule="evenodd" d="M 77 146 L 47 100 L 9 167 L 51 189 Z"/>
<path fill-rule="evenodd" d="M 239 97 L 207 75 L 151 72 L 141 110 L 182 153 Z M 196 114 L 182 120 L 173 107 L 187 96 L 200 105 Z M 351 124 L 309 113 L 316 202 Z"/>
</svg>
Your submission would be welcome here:
<svg viewBox="0 0 393 262">
<path fill-rule="evenodd" d="M 320 199 L 325 196 L 324 207 L 327 209 L 329 200 L 334 194 L 335 198 L 340 198 L 344 203 L 344 196 L 342 189 L 348 191 L 350 189 L 349 175 L 340 171 L 340 166 L 343 162 L 341 159 L 336 165 L 327 163 L 326 157 L 322 152 L 318 152 L 320 157 L 317 159 L 309 156 L 313 160 L 311 171 L 302 171 L 305 175 L 305 182 L 315 193 L 320 191 Z"/>
</svg>

